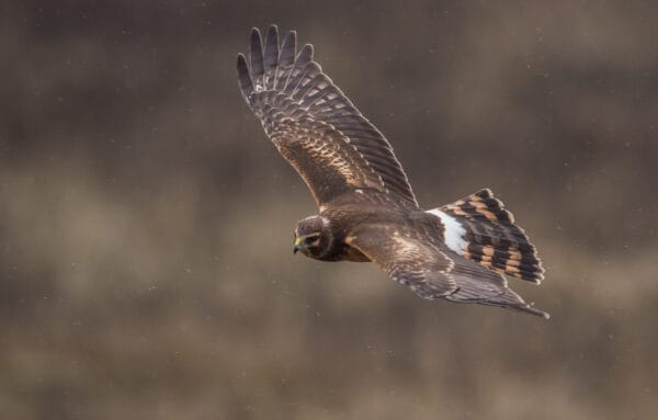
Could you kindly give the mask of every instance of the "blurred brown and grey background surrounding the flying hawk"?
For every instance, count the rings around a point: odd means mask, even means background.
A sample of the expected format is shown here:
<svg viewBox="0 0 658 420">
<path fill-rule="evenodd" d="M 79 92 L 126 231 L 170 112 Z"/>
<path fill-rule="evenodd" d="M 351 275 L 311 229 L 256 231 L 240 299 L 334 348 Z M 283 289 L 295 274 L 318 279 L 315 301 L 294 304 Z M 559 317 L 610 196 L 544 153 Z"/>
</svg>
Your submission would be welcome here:
<svg viewBox="0 0 658 420">
<path fill-rule="evenodd" d="M 658 4 L 0 7 L 0 417 L 658 417 Z M 480 188 L 547 268 L 544 321 L 293 257 L 316 212 L 238 93 L 277 23 L 426 208 Z"/>
</svg>

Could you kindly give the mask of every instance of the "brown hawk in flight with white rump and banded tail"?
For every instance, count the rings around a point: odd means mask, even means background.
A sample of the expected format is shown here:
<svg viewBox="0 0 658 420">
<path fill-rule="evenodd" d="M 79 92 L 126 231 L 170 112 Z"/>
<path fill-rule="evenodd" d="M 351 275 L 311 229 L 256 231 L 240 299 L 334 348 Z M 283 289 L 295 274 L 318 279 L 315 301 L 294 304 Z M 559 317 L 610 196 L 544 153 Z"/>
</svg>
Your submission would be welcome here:
<svg viewBox="0 0 658 420">
<path fill-rule="evenodd" d="M 499 306 L 548 318 L 504 275 L 540 283 L 535 247 L 485 189 L 430 211 L 419 207 L 384 135 L 314 61 L 296 33 L 264 46 L 251 32 L 238 84 L 268 137 L 313 193 L 319 213 L 295 227 L 294 252 L 322 261 L 372 261 L 426 299 Z"/>
</svg>

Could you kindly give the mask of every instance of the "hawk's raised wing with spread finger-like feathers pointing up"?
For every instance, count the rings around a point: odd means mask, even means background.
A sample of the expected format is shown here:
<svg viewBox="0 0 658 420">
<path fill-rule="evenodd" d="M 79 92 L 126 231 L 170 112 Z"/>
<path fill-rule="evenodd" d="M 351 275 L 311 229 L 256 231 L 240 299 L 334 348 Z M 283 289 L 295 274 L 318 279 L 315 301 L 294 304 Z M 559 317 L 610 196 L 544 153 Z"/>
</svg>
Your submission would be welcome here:
<svg viewBox="0 0 658 420">
<path fill-rule="evenodd" d="M 279 50 L 276 26 L 270 26 L 263 52 L 254 29 L 250 65 L 238 55 L 238 82 L 247 104 L 318 205 L 356 192 L 418 207 L 384 135 L 313 60 L 310 44 L 295 50 L 295 32 L 286 35 Z"/>
</svg>

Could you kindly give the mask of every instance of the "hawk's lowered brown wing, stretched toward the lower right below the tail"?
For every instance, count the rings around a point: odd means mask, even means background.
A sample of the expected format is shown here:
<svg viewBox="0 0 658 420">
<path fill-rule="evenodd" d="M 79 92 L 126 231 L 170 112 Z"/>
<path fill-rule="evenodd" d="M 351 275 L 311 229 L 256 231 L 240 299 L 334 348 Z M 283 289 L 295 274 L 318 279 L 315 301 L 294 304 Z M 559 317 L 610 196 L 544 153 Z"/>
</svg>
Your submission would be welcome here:
<svg viewBox="0 0 658 420">
<path fill-rule="evenodd" d="M 371 225 L 347 242 L 422 298 L 500 306 L 548 318 L 510 290 L 502 275 L 457 256 L 430 236 L 399 226 Z"/>
</svg>

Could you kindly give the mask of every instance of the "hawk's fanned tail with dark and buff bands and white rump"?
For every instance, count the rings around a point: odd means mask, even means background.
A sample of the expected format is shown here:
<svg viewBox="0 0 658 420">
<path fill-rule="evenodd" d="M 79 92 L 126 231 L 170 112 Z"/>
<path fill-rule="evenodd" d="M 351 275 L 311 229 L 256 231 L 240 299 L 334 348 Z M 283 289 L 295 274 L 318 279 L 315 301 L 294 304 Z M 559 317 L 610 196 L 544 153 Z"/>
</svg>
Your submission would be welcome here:
<svg viewBox="0 0 658 420">
<path fill-rule="evenodd" d="M 429 213 L 441 218 L 445 243 L 457 254 L 500 274 L 537 284 L 544 280 L 536 248 L 491 190 L 480 190 Z"/>
</svg>

